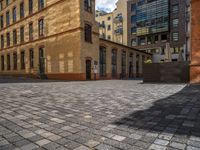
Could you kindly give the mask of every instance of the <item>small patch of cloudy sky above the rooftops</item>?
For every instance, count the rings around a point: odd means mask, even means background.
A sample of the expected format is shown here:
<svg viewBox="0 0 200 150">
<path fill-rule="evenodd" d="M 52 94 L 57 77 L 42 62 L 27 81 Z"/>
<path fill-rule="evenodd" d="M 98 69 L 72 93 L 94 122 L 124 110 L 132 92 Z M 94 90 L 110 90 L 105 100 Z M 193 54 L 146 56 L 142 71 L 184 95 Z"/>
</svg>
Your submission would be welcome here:
<svg viewBox="0 0 200 150">
<path fill-rule="evenodd" d="M 96 0 L 96 9 L 111 12 L 115 9 L 115 3 L 118 0 Z"/>
</svg>

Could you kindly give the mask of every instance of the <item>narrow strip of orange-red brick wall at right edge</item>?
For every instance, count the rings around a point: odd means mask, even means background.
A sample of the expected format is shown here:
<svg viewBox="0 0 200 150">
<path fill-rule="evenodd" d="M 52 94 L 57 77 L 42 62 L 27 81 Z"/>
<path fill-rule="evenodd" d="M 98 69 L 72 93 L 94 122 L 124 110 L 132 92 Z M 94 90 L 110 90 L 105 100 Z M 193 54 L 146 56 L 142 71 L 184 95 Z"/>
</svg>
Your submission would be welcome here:
<svg viewBox="0 0 200 150">
<path fill-rule="evenodd" d="M 190 82 L 200 83 L 200 0 L 192 0 Z"/>
</svg>

